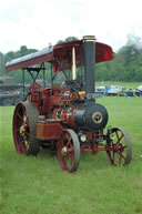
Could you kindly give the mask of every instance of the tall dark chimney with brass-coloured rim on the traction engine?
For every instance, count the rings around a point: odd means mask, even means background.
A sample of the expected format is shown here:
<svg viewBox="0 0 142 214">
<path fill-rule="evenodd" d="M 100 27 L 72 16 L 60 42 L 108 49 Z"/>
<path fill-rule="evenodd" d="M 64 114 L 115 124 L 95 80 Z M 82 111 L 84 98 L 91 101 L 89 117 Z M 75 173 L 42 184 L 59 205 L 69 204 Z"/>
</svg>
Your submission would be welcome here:
<svg viewBox="0 0 142 214">
<path fill-rule="evenodd" d="M 84 61 L 84 83 L 87 100 L 94 100 L 94 59 L 95 59 L 95 37 L 83 37 L 83 61 Z"/>
</svg>

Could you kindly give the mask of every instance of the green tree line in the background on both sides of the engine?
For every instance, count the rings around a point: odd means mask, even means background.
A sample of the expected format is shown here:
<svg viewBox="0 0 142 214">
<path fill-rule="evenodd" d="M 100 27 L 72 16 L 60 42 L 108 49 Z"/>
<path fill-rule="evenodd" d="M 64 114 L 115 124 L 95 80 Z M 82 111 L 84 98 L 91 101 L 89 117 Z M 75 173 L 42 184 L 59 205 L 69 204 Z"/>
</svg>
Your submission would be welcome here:
<svg viewBox="0 0 142 214">
<path fill-rule="evenodd" d="M 65 40 L 59 40 L 57 43 L 63 41 L 78 40 L 75 37 L 69 37 Z M 28 49 L 27 45 L 21 45 L 19 51 L 10 51 L 6 54 L 0 52 L 0 77 L 12 77 L 17 82 L 21 82 L 21 72 L 4 72 L 4 65 L 8 61 L 17 59 L 38 50 Z M 47 68 L 49 64 L 47 63 Z M 129 35 L 128 42 L 118 52 L 114 53 L 113 60 L 98 63 L 97 81 L 142 81 L 142 40 L 139 37 Z M 48 72 L 48 75 L 50 73 Z M 28 78 L 28 77 L 27 77 Z"/>
</svg>

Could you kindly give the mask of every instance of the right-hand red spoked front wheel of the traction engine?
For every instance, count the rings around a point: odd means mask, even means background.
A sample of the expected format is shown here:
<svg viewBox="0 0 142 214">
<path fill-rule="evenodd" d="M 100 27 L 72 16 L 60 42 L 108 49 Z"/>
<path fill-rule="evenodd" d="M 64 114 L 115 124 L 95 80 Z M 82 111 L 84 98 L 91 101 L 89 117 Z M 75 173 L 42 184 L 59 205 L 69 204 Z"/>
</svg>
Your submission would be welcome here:
<svg viewBox="0 0 142 214">
<path fill-rule="evenodd" d="M 121 128 L 113 128 L 106 142 L 109 161 L 113 165 L 126 165 L 132 159 L 132 145 L 128 133 Z"/>
</svg>

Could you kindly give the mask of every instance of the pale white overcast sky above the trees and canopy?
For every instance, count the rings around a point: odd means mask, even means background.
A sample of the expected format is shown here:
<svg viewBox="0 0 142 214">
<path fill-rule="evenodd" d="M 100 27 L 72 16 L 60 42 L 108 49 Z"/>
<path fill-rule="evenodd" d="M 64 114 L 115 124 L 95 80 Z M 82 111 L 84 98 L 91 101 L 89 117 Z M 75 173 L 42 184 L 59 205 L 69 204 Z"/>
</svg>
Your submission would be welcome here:
<svg viewBox="0 0 142 214">
<path fill-rule="evenodd" d="M 95 35 L 114 51 L 142 38 L 142 0 L 2 0 L 0 52 L 41 50 L 68 37 Z"/>
</svg>

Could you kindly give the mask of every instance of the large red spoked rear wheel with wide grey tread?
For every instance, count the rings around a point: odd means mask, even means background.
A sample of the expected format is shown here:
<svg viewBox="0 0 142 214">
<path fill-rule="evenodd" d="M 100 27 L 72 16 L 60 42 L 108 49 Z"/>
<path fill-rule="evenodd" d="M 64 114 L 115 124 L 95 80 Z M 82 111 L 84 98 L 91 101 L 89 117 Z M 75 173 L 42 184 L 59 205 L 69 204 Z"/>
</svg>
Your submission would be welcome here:
<svg viewBox="0 0 142 214">
<path fill-rule="evenodd" d="M 13 141 L 18 153 L 37 155 L 40 150 L 36 137 L 36 121 L 39 112 L 30 102 L 20 102 L 13 114 Z"/>
</svg>

